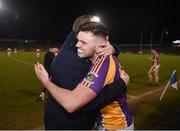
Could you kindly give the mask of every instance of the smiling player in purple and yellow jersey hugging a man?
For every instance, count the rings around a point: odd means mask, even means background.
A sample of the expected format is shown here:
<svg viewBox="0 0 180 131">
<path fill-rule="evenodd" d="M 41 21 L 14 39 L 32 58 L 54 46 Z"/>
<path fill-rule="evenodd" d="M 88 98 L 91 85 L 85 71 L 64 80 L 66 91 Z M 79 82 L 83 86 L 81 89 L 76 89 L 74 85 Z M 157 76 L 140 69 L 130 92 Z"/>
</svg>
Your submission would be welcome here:
<svg viewBox="0 0 180 131">
<path fill-rule="evenodd" d="M 96 54 L 101 43 L 108 42 L 108 32 L 104 24 L 84 23 L 78 31 L 77 53 L 80 58 L 92 62 L 90 71 L 72 91 L 58 87 L 48 79 L 48 74 L 41 64 L 35 65 L 35 71 L 42 84 L 49 90 L 55 100 L 72 113 L 94 99 L 108 84 L 120 79 L 119 62 L 115 56 Z M 122 71 L 121 77 L 127 84 L 129 78 Z M 126 94 L 104 106 L 99 111 L 98 126 L 102 129 L 133 129 L 133 116 L 128 107 Z"/>
</svg>

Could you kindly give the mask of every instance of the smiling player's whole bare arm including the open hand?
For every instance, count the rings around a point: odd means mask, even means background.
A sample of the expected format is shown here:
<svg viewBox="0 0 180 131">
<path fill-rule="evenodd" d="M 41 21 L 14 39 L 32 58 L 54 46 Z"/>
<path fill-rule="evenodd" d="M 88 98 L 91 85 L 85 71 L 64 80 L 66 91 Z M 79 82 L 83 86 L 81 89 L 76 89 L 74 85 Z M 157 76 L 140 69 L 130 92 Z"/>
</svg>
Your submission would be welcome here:
<svg viewBox="0 0 180 131">
<path fill-rule="evenodd" d="M 36 75 L 52 97 L 68 112 L 74 112 L 91 101 L 96 93 L 80 83 L 73 91 L 58 87 L 49 80 L 49 75 L 42 64 L 35 64 Z"/>
</svg>

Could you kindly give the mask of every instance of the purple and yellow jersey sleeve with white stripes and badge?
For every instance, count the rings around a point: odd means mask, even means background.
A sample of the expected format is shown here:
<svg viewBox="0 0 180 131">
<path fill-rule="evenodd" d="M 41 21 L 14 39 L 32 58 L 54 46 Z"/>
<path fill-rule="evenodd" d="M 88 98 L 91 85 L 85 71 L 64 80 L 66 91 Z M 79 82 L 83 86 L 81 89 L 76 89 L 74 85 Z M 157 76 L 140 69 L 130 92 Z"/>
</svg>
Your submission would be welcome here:
<svg viewBox="0 0 180 131">
<path fill-rule="evenodd" d="M 115 74 L 116 65 L 112 55 L 100 56 L 96 59 L 82 83 L 96 94 L 99 94 L 104 86 L 114 81 Z"/>
</svg>

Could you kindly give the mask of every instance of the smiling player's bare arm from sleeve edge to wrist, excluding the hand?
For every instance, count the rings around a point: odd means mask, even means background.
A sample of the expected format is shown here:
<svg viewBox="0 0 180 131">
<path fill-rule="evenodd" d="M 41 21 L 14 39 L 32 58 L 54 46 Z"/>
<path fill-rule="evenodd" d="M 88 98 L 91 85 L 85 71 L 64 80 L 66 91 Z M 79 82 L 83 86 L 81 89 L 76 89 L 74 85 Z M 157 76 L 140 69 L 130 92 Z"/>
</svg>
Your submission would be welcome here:
<svg viewBox="0 0 180 131">
<path fill-rule="evenodd" d="M 75 112 L 96 97 L 96 93 L 79 84 L 73 91 L 61 88 L 48 81 L 44 84 L 52 97 L 69 112 Z"/>
</svg>

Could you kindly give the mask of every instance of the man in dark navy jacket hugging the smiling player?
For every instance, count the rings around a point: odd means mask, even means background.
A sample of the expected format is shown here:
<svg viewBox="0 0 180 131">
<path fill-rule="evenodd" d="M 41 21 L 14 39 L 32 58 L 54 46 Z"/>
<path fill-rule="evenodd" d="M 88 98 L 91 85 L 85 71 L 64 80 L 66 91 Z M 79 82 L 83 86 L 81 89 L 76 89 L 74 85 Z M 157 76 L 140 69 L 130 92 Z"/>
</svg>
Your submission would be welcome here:
<svg viewBox="0 0 180 131">
<path fill-rule="evenodd" d="M 76 27 L 83 22 L 91 21 L 91 18 L 92 16 L 85 15 L 77 19 L 79 23 L 75 21 L 75 28 L 67 36 L 60 53 L 54 59 L 51 66 L 51 81 L 57 86 L 73 90 L 89 70 L 91 64 L 87 59 L 79 58 L 75 45 Z M 119 93 L 127 90 L 122 79 L 109 86 L 89 104 L 74 113 L 68 113 L 49 94 L 45 104 L 45 129 L 92 129 L 98 110 L 116 99 Z"/>
</svg>

